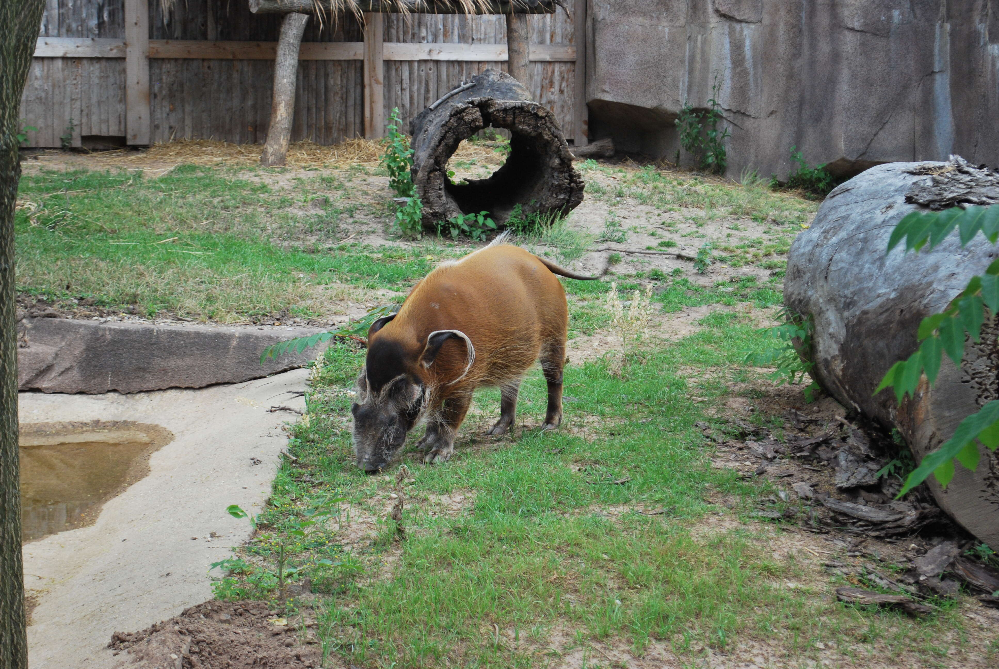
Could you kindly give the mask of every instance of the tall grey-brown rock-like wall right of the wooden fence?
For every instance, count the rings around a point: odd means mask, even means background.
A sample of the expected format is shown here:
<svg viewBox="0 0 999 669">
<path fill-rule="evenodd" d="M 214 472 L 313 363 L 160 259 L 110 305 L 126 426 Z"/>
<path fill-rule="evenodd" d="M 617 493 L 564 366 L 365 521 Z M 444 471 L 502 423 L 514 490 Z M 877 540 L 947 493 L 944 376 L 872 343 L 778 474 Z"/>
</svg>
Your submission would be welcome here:
<svg viewBox="0 0 999 669">
<path fill-rule="evenodd" d="M 589 0 L 590 139 L 672 159 L 717 73 L 728 171 L 999 163 L 999 0 Z M 686 157 L 684 157 L 688 160 Z"/>
</svg>

